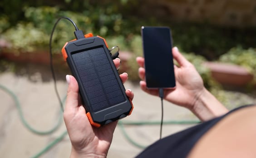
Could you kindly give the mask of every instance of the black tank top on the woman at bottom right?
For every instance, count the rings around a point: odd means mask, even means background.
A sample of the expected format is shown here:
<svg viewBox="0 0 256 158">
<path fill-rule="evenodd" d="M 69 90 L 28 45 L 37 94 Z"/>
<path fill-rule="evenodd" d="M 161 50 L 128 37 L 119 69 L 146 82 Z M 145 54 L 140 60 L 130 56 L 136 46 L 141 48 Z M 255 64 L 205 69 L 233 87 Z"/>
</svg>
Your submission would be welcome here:
<svg viewBox="0 0 256 158">
<path fill-rule="evenodd" d="M 136 158 L 186 158 L 202 135 L 216 125 L 218 121 L 222 120 L 222 118 L 229 115 L 231 112 L 248 106 L 251 105 L 238 107 L 223 116 L 219 116 L 160 139 L 146 148 Z"/>
</svg>

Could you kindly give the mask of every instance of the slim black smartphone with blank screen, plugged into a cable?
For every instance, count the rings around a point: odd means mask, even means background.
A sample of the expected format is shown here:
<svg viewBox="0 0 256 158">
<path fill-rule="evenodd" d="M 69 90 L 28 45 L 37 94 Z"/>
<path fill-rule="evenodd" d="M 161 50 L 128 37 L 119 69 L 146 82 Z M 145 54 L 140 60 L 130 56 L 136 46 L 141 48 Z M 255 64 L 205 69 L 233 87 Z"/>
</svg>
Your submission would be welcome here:
<svg viewBox="0 0 256 158">
<path fill-rule="evenodd" d="M 168 27 L 141 28 L 148 88 L 174 88 L 172 35 Z"/>
</svg>

